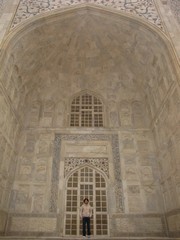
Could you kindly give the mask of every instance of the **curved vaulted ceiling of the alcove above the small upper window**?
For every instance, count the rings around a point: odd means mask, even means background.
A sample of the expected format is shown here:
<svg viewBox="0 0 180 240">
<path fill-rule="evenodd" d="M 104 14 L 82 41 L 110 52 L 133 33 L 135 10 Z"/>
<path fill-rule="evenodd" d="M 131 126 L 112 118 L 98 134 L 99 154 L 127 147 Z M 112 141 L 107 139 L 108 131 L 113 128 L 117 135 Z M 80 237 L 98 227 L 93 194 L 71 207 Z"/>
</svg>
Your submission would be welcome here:
<svg viewBox="0 0 180 240">
<path fill-rule="evenodd" d="M 7 51 L 27 102 L 58 100 L 83 89 L 115 101 L 145 101 L 163 77 L 174 77 L 168 40 L 130 16 L 83 7 L 47 15 L 18 31 Z"/>
</svg>

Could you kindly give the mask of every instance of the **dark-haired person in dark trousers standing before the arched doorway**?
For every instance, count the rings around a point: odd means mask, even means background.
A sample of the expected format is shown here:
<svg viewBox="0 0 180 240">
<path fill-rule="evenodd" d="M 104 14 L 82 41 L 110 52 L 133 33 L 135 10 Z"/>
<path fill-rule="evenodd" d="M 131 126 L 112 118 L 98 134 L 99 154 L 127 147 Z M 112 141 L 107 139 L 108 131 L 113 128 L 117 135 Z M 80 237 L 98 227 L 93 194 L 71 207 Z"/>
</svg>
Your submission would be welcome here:
<svg viewBox="0 0 180 240">
<path fill-rule="evenodd" d="M 87 228 L 87 236 L 90 238 L 91 230 L 90 230 L 90 218 L 92 216 L 92 207 L 89 204 L 89 199 L 85 198 L 83 200 L 83 205 L 80 208 L 80 217 L 82 219 L 82 227 L 83 227 L 83 238 L 86 237 L 86 228 Z"/>
</svg>

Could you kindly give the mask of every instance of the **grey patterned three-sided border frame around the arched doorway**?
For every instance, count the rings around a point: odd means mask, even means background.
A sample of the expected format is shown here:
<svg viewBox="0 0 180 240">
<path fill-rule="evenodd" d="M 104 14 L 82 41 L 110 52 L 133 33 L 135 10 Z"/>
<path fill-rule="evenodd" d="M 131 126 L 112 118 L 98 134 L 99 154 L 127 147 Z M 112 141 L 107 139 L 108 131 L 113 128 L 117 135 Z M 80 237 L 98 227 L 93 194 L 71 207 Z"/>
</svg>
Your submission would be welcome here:
<svg viewBox="0 0 180 240">
<path fill-rule="evenodd" d="M 54 140 L 54 157 L 52 162 L 51 173 L 51 196 L 49 211 L 57 212 L 58 184 L 59 184 L 59 168 L 62 141 L 109 141 L 112 146 L 113 165 L 115 173 L 115 192 L 117 212 L 124 212 L 124 198 L 121 180 L 120 153 L 118 134 L 56 134 Z"/>
</svg>

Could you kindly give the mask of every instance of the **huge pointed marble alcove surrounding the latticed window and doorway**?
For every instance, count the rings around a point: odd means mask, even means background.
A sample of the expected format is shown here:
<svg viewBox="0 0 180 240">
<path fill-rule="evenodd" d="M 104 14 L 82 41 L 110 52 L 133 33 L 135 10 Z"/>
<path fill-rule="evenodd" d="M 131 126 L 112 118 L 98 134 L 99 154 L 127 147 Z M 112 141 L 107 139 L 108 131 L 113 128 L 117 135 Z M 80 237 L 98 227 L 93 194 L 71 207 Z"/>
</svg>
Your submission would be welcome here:
<svg viewBox="0 0 180 240">
<path fill-rule="evenodd" d="M 110 159 L 110 205 L 118 199 L 110 236 L 164 236 L 165 212 L 177 234 L 179 65 L 168 37 L 129 14 L 84 5 L 29 19 L 1 50 L 2 232 L 63 235 L 53 205 L 62 152 Z M 70 99 L 85 89 L 104 99 L 103 129 L 69 126 Z M 72 149 L 56 148 L 61 132 Z"/>
</svg>

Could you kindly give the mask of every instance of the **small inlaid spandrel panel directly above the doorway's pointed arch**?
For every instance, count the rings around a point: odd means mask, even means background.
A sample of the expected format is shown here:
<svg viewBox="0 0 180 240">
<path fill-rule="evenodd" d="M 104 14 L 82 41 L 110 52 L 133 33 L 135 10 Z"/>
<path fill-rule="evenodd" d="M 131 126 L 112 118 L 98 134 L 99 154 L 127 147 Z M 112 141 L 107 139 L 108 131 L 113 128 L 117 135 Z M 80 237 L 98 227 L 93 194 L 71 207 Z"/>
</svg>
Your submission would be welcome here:
<svg viewBox="0 0 180 240">
<path fill-rule="evenodd" d="M 109 177 L 108 158 L 65 158 L 64 174 L 65 176 L 76 167 L 88 164 L 102 170 Z"/>
</svg>

